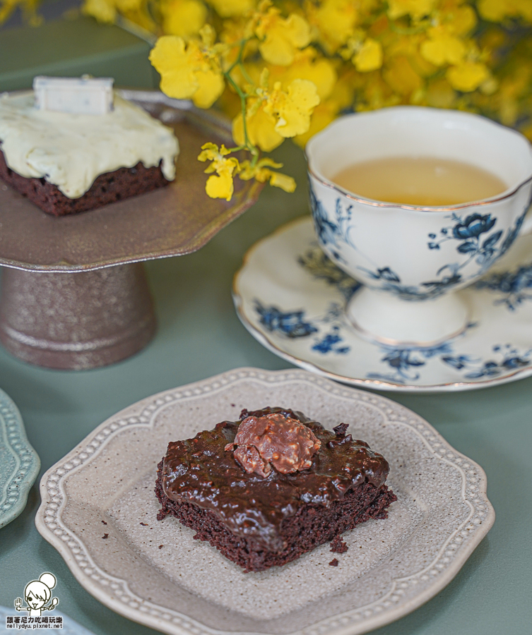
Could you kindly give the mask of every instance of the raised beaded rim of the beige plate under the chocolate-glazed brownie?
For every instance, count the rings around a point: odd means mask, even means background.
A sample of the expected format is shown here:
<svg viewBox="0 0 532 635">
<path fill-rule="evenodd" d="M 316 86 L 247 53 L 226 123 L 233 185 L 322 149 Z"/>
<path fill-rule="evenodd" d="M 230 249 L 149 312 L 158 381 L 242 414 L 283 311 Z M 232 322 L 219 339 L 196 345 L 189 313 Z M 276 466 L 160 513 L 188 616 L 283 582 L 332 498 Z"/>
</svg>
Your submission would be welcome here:
<svg viewBox="0 0 532 635">
<path fill-rule="evenodd" d="M 228 371 L 208 380 L 148 397 L 129 406 L 102 423 L 78 447 L 45 473 L 40 483 L 42 504 L 37 512 L 35 524 L 42 536 L 64 557 L 81 585 L 112 610 L 168 634 L 215 635 L 227 632 L 254 632 L 238 627 L 230 630 L 215 629 L 201 623 L 199 619 L 158 605 L 153 599 L 148 600 L 148 596 L 157 597 L 156 588 L 146 588 L 146 593 L 142 594 L 135 593 L 130 588 L 133 576 L 131 579 L 121 579 L 114 576 L 112 571 L 105 571 L 99 567 L 91 555 L 90 548 L 85 544 L 81 531 L 76 533 L 63 519 L 69 504 L 75 502 L 69 500 L 69 496 L 66 495 L 69 477 L 79 471 L 88 470 L 105 451 L 110 440 L 134 428 L 153 428 L 155 418 L 168 406 L 179 401 L 194 401 L 201 404 L 202 399 L 207 396 L 225 393 L 229 395 L 228 399 L 231 399 L 235 389 L 240 387 L 242 391 L 242 384 L 248 385 L 250 382 L 255 390 L 261 385 L 265 388 L 273 385 L 280 389 L 288 385 L 297 385 L 307 392 L 319 389 L 321 397 L 329 404 L 348 400 L 378 411 L 379 416 L 384 417 L 385 425 L 393 423 L 394 430 L 401 431 L 395 434 L 406 435 L 407 440 L 408 437 L 415 437 L 422 442 L 425 449 L 424 459 L 444 464 L 446 469 L 454 473 L 453 478 L 459 476 L 461 500 L 454 501 L 449 497 L 449 513 L 453 512 L 458 504 L 465 505 L 468 509 L 465 519 L 461 518 L 452 527 L 435 530 L 445 532 L 443 537 L 437 536 L 442 540 L 442 546 L 435 557 L 420 569 L 405 576 L 398 576 L 392 579 L 391 583 L 383 585 L 382 595 L 376 601 L 352 610 L 342 610 L 325 619 L 315 620 L 314 623 L 300 629 L 293 629 L 290 635 L 362 634 L 403 617 L 441 591 L 458 573 L 495 521 L 494 509 L 486 496 L 486 476 L 483 469 L 451 447 L 427 421 L 390 399 L 343 387 L 305 370 L 266 371 L 254 368 Z M 442 483 L 442 487 L 444 485 L 445 483 Z M 250 583 L 253 575 L 247 574 Z M 324 603 L 321 603 L 322 608 L 323 606 Z M 321 615 L 326 615 L 326 612 L 326 608 L 321 610 Z M 263 635 L 266 632 L 268 631 L 261 630 Z"/>
</svg>

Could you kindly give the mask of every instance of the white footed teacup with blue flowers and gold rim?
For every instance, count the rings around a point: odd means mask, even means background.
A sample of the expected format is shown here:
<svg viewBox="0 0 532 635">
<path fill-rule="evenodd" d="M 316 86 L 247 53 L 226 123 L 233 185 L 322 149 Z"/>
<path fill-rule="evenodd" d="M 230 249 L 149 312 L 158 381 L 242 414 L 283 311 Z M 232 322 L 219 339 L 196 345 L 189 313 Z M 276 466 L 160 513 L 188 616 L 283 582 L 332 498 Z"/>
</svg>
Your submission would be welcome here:
<svg viewBox="0 0 532 635">
<path fill-rule="evenodd" d="M 307 144 L 321 248 L 364 286 L 350 321 L 370 339 L 428 346 L 459 334 L 469 308 L 454 293 L 507 252 L 531 200 L 532 147 L 523 135 L 459 111 L 394 107 L 333 121 Z M 472 164 L 507 184 L 500 195 L 449 207 L 379 202 L 333 183 L 358 162 L 438 157 Z"/>
</svg>

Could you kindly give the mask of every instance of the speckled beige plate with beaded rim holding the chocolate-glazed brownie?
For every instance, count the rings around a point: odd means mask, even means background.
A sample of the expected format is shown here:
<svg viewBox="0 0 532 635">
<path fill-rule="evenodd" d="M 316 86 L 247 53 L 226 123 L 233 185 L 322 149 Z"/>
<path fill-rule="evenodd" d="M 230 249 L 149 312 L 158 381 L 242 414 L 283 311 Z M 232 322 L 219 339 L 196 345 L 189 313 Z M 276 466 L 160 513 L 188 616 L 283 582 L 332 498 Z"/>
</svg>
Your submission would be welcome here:
<svg viewBox="0 0 532 635">
<path fill-rule="evenodd" d="M 350 432 L 389 460 L 389 518 L 284 567 L 244 574 L 194 531 L 157 521 L 170 440 L 279 404 Z M 102 423 L 41 480 L 37 529 L 113 610 L 169 634 L 355 635 L 392 622 L 456 575 L 495 518 L 485 474 L 389 399 L 304 370 L 233 370 L 143 399 Z"/>
</svg>

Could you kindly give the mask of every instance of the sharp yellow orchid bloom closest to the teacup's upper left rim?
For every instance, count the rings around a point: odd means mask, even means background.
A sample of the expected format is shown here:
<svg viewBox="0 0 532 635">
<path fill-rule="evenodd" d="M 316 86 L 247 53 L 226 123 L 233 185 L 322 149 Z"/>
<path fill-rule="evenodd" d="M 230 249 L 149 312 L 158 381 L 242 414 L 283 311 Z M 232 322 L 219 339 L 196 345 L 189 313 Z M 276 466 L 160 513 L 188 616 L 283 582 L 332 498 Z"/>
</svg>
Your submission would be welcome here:
<svg viewBox="0 0 532 635">
<path fill-rule="evenodd" d="M 293 80 L 286 91 L 280 82 L 273 85 L 268 95 L 264 111 L 276 117 L 276 132 L 282 137 L 295 137 L 306 133 L 310 126 L 310 116 L 319 104 L 316 86 L 309 80 Z"/>
</svg>

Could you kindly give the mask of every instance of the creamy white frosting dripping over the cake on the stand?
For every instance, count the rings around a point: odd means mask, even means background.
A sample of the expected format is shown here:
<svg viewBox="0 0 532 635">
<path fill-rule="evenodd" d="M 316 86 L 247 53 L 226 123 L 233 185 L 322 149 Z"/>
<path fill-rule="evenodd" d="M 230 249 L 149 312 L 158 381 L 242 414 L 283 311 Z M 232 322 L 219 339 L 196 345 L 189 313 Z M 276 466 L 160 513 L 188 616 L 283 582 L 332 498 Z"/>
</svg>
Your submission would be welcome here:
<svg viewBox="0 0 532 635">
<path fill-rule="evenodd" d="M 13 171 L 44 177 L 69 198 L 79 198 L 105 172 L 158 165 L 175 178 L 179 143 L 146 111 L 114 96 L 114 110 L 100 115 L 35 108 L 33 92 L 0 95 L 0 149 Z"/>
</svg>

